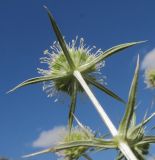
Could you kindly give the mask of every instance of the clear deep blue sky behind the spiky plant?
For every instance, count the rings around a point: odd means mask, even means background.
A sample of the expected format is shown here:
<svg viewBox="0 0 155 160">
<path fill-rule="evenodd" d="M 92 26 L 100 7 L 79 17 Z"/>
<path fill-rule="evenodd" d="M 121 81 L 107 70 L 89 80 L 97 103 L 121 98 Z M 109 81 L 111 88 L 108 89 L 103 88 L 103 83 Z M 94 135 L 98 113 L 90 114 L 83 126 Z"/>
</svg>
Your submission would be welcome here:
<svg viewBox="0 0 155 160">
<path fill-rule="evenodd" d="M 37 68 L 43 51 L 55 41 L 55 35 L 43 5 L 47 5 L 61 28 L 67 42 L 78 35 L 87 45 L 102 50 L 114 45 L 148 40 L 106 60 L 103 75 L 108 87 L 127 100 L 137 54 L 140 59 L 155 48 L 154 0 L 1 0 L 0 1 L 0 155 L 21 159 L 21 155 L 39 150 L 32 143 L 42 131 L 65 125 L 69 98 L 47 98 L 42 84 L 21 88 L 5 94 L 16 84 L 38 76 Z M 146 89 L 140 73 L 137 110 L 142 119 L 151 104 L 154 91 Z M 118 126 L 124 106 L 100 91 L 93 89 L 105 110 Z M 155 109 L 153 108 L 152 111 Z M 87 114 L 86 114 L 87 113 Z M 85 95 L 79 95 L 76 115 L 92 129 L 107 133 L 92 104 Z M 152 124 L 155 120 L 152 121 Z M 112 153 L 112 154 L 110 154 Z M 92 155 L 94 159 L 114 159 L 114 152 Z M 52 157 L 52 158 L 51 158 Z M 53 155 L 33 160 L 56 159 Z"/>
</svg>

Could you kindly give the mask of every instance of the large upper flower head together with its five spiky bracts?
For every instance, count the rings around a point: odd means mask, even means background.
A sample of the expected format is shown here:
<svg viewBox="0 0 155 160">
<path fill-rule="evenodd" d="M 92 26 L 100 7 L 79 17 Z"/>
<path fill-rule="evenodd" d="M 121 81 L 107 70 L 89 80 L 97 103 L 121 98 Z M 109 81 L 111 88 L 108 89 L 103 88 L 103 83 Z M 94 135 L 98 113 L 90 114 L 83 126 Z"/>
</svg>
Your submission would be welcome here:
<svg viewBox="0 0 155 160">
<path fill-rule="evenodd" d="M 59 42 L 56 42 L 57 47 L 55 48 L 55 50 L 57 50 L 57 55 L 54 54 L 54 59 L 52 59 L 52 57 L 50 57 L 49 59 L 43 59 L 43 61 L 46 61 L 49 64 L 49 68 L 47 71 L 39 71 L 41 74 L 43 74 L 43 76 L 28 79 L 14 87 L 12 90 L 10 90 L 10 92 L 16 90 L 17 88 L 40 82 L 48 82 L 47 85 L 44 85 L 44 89 L 47 89 L 47 92 L 50 92 L 52 88 L 54 88 L 56 92 L 67 92 L 71 97 L 68 122 L 70 127 L 72 126 L 73 122 L 72 114 L 75 112 L 77 92 L 82 91 L 82 88 L 80 87 L 75 76 L 73 75 L 75 70 L 82 74 L 83 78 L 88 84 L 97 87 L 106 94 L 124 103 L 124 101 L 118 95 L 116 95 L 114 92 L 110 91 L 104 85 L 99 83 L 93 73 L 98 71 L 98 69 L 100 68 L 100 64 L 103 64 L 103 61 L 106 58 L 128 47 L 142 43 L 143 41 L 117 45 L 102 53 L 99 50 L 100 53 L 98 54 L 98 52 L 95 52 L 97 53 L 97 55 L 94 55 L 89 49 L 85 48 L 85 46 L 79 46 L 76 48 L 74 46 L 74 43 L 72 43 L 73 47 L 67 45 L 51 12 L 47 9 L 47 7 L 45 8 L 47 10 L 53 30 L 56 34 L 57 40 Z M 79 62 L 79 60 L 82 61 Z M 53 91 L 50 92 L 50 94 L 52 93 Z"/>
</svg>

